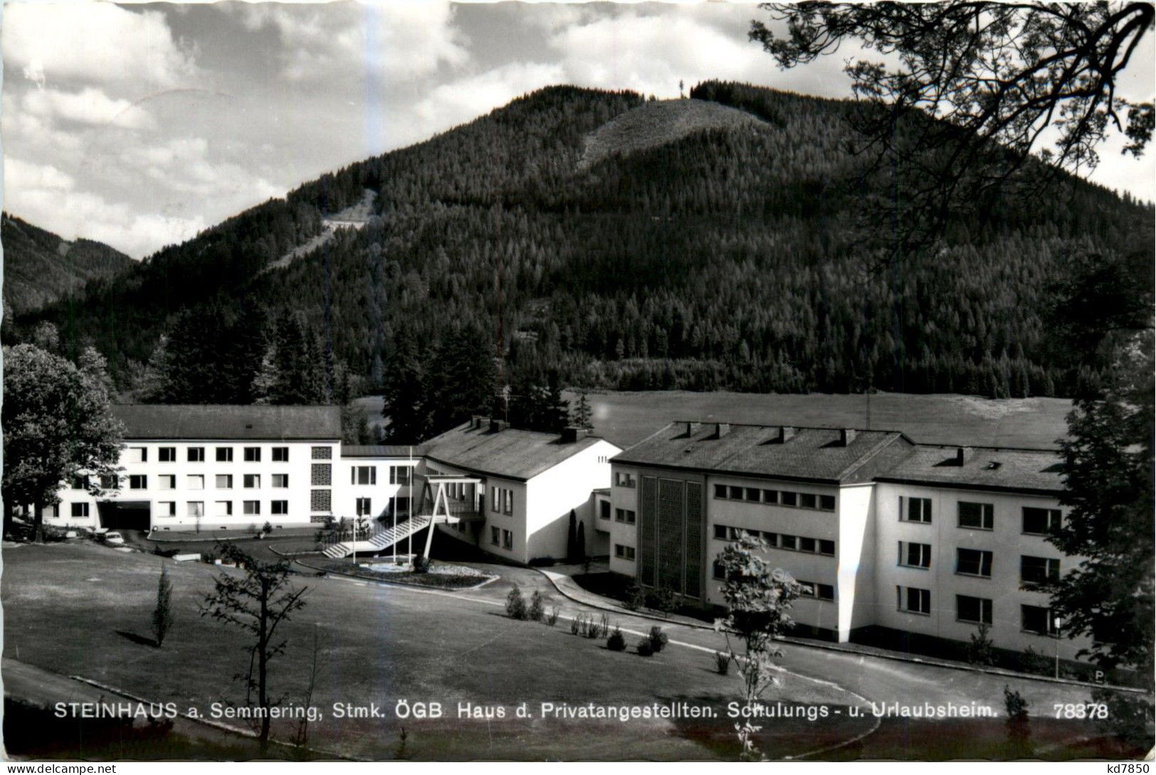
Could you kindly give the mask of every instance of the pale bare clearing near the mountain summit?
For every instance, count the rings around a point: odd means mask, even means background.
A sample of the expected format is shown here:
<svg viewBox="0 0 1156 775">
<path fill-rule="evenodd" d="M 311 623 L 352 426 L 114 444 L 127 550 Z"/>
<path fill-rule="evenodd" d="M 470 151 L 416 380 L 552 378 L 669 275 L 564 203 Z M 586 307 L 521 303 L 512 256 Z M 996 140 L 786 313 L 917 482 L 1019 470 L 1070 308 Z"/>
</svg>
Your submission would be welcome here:
<svg viewBox="0 0 1156 775">
<path fill-rule="evenodd" d="M 615 117 L 586 135 L 578 169 L 614 154 L 633 154 L 681 140 L 703 129 L 763 131 L 770 125 L 736 107 L 705 99 L 661 99 Z"/>
</svg>

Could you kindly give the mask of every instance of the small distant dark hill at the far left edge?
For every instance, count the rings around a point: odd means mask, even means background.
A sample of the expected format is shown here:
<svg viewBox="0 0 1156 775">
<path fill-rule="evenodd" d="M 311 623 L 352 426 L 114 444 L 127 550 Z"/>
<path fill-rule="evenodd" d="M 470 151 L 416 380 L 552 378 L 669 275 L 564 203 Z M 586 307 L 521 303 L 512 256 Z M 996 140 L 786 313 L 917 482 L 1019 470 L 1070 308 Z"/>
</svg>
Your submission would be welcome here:
<svg viewBox="0 0 1156 775">
<path fill-rule="evenodd" d="M 111 277 L 134 261 L 103 243 L 66 241 L 16 216 L 0 216 L 5 316 L 43 307 L 89 280 Z"/>
</svg>

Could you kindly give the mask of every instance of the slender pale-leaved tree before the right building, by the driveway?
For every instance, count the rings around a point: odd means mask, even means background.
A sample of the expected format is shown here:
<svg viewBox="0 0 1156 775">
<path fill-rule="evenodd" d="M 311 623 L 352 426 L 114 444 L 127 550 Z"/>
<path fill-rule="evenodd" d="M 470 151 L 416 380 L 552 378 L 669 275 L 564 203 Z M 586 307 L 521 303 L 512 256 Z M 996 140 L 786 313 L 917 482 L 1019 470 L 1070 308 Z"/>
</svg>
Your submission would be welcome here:
<svg viewBox="0 0 1156 775">
<path fill-rule="evenodd" d="M 727 614 L 714 621 L 714 628 L 726 634 L 727 651 L 742 676 L 747 707 L 757 706 L 776 683 L 775 660 L 783 656 L 777 639 L 793 625 L 791 604 L 799 596 L 798 582 L 759 556 L 766 549 L 761 537 L 744 536 L 718 556 Z M 742 642 L 741 655 L 731 642 L 732 633 Z M 749 721 L 739 726 L 744 761 L 762 758 L 754 739 L 759 729 Z"/>
</svg>

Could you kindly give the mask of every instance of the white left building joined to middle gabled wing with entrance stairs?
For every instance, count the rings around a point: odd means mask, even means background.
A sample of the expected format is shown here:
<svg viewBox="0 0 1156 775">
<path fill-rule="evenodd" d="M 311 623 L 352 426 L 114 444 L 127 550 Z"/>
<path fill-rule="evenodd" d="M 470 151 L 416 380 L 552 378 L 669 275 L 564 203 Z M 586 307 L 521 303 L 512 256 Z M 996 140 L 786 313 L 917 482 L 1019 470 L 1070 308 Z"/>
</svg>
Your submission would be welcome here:
<svg viewBox="0 0 1156 775">
<path fill-rule="evenodd" d="M 141 404 L 114 413 L 125 426 L 119 476 L 66 483 L 47 523 L 254 531 L 363 517 L 384 530 L 418 517 L 398 534 L 409 537 L 430 517 L 457 541 L 528 562 L 565 557 L 573 512 L 586 553 L 606 553 L 593 492 L 608 492 L 609 459 L 621 448 L 585 431 L 538 433 L 475 417 L 421 446 L 350 446 L 336 407 Z"/>
</svg>

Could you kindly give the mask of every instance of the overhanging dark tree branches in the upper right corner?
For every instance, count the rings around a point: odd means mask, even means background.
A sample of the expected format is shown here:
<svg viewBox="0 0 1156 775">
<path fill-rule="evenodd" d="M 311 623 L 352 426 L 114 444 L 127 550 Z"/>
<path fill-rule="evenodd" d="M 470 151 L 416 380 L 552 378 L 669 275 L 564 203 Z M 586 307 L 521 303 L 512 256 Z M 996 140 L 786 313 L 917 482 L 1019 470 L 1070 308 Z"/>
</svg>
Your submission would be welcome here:
<svg viewBox="0 0 1156 775">
<path fill-rule="evenodd" d="M 858 43 L 888 61 L 850 60 L 868 110 L 861 149 L 875 166 L 905 165 L 892 225 L 939 234 L 953 209 L 981 207 L 1024 169 L 1095 167 L 1113 132 L 1139 156 L 1151 139 L 1151 103 L 1117 87 L 1153 29 L 1150 3 L 968 2 L 764 3 L 777 33 L 751 22 L 750 38 L 790 68 Z M 1040 150 L 1039 144 L 1051 141 Z M 1045 172 L 1037 166 L 1033 172 Z M 892 172 L 895 170 L 892 169 Z M 881 198 L 885 199 L 885 198 Z"/>
</svg>

